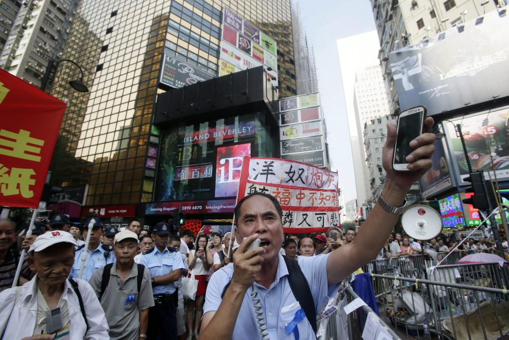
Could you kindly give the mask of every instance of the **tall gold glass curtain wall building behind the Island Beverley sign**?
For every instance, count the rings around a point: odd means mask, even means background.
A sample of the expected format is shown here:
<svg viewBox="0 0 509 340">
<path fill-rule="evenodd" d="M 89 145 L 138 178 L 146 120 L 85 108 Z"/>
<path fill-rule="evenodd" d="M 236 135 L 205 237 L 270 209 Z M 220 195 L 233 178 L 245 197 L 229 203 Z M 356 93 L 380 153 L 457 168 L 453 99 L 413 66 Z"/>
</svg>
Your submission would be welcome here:
<svg viewBox="0 0 509 340">
<path fill-rule="evenodd" d="M 218 75 L 221 19 L 228 7 L 278 44 L 279 96 L 297 94 L 290 0 L 83 0 L 62 58 L 80 64 L 88 94 L 68 93 L 59 67 L 52 95 L 69 98 L 51 184 L 89 186 L 86 205 L 150 202 L 149 156 L 164 54 Z M 65 76 L 64 76 L 65 74 Z"/>
</svg>

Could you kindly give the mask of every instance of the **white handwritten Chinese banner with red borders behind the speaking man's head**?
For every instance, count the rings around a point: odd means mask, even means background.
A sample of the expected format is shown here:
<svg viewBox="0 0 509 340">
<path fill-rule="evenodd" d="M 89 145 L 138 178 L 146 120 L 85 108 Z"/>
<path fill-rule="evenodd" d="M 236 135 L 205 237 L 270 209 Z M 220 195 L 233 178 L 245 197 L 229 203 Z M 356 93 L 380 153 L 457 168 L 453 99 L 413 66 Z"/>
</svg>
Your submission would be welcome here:
<svg viewBox="0 0 509 340">
<path fill-rule="evenodd" d="M 337 172 L 295 161 L 244 157 L 237 202 L 253 192 L 279 201 L 284 232 L 340 227 Z"/>
</svg>

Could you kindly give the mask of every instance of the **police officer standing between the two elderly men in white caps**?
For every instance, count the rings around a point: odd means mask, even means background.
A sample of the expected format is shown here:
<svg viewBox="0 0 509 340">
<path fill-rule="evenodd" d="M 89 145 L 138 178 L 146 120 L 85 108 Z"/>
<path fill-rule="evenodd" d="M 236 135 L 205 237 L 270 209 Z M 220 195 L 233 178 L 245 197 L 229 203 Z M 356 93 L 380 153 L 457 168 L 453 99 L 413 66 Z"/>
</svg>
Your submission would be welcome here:
<svg viewBox="0 0 509 340">
<path fill-rule="evenodd" d="M 85 261 L 85 267 L 83 269 L 83 280 L 90 280 L 92 274 L 99 268 L 106 266 L 107 264 L 114 263 L 116 258 L 112 251 L 106 251 L 101 243 L 101 236 L 104 233 L 102 221 L 97 217 L 89 218 L 83 227 L 83 238 L 87 239 L 87 232 L 89 224 L 93 223 L 92 232 L 90 234 L 90 243 L 88 249 L 87 260 Z M 81 266 L 81 254 L 85 250 L 85 245 L 81 245 L 76 249 L 76 255 L 74 257 L 74 265 L 71 269 L 71 278 L 78 278 L 79 267 Z"/>
</svg>

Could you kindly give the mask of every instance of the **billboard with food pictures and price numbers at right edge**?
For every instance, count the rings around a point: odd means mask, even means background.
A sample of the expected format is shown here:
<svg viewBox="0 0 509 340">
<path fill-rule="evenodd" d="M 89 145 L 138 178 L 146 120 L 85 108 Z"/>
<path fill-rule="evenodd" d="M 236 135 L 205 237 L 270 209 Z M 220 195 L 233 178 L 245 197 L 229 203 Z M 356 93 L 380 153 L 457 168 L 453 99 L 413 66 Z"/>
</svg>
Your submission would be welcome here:
<svg viewBox="0 0 509 340">
<path fill-rule="evenodd" d="M 482 112 L 474 116 L 453 120 L 453 123 L 444 123 L 447 144 L 455 164 L 458 185 L 467 186 L 468 166 L 461 139 L 456 136 L 455 125 L 461 123 L 463 138 L 473 171 L 484 170 L 485 179 L 489 180 L 488 171 L 494 177 L 496 172 L 498 180 L 509 179 L 509 108 L 497 111 Z M 491 147 L 491 157 L 488 149 Z M 493 158 L 493 164 L 491 162 Z"/>
</svg>

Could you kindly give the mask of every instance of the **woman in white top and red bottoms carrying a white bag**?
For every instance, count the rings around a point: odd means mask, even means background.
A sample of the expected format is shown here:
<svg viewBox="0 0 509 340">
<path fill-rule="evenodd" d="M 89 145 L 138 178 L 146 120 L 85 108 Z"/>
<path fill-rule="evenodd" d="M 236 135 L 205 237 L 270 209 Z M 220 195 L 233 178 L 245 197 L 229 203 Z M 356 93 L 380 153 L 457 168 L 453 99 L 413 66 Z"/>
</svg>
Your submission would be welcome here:
<svg viewBox="0 0 509 340">
<path fill-rule="evenodd" d="M 192 270 L 194 278 L 198 280 L 196 298 L 187 300 L 187 327 L 189 328 L 188 340 L 194 337 L 198 339 L 198 330 L 203 315 L 203 304 L 205 302 L 205 291 L 207 289 L 207 273 L 210 270 L 210 262 L 207 261 L 206 247 L 209 242 L 207 235 L 201 234 L 196 239 L 196 249 L 189 251 L 189 271 Z M 190 274 L 189 274 L 190 275 Z M 193 318 L 194 317 L 194 318 Z M 195 322 L 193 327 L 193 320 Z"/>
</svg>

